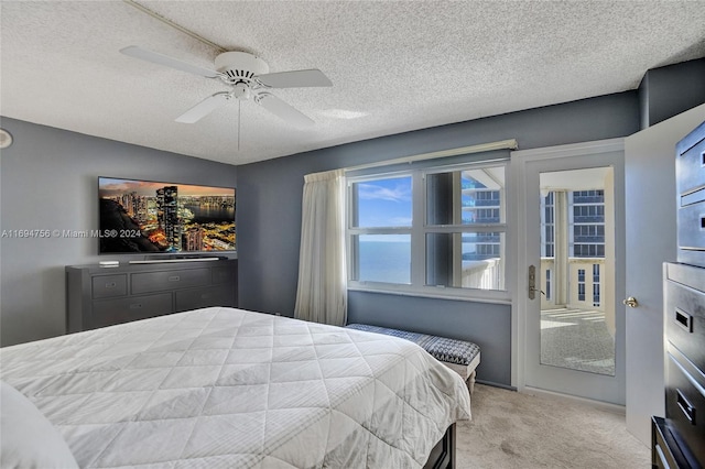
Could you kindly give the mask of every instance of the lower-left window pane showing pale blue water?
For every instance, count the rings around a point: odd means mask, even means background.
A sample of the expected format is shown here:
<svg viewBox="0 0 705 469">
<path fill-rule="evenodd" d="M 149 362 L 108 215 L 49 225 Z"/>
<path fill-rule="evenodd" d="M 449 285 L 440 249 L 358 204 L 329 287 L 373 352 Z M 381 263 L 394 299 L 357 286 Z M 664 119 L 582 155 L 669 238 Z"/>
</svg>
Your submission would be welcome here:
<svg viewBox="0 0 705 469">
<path fill-rule="evenodd" d="M 411 234 L 359 234 L 354 238 L 358 281 L 411 283 Z"/>
</svg>

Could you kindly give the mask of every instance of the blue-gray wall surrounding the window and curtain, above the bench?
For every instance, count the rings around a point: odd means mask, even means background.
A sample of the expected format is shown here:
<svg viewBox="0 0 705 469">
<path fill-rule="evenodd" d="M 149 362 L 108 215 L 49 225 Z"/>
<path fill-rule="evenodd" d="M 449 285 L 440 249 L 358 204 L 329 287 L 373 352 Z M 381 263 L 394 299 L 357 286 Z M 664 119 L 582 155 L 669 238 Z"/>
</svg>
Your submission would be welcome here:
<svg viewBox="0 0 705 469">
<path fill-rule="evenodd" d="M 639 99 L 627 91 L 238 166 L 240 306 L 293 314 L 305 174 L 512 138 L 532 149 L 638 130 Z M 482 347 L 478 378 L 511 382 L 510 306 L 350 292 L 348 316 L 471 340 Z"/>
</svg>

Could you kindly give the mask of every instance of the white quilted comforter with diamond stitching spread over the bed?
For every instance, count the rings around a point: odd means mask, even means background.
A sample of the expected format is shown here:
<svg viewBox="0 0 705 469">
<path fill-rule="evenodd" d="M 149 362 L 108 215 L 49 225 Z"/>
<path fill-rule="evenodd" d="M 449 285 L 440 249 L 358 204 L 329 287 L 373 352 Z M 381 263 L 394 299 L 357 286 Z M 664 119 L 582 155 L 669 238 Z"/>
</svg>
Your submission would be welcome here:
<svg viewBox="0 0 705 469">
<path fill-rule="evenodd" d="M 205 308 L 1 350 L 82 467 L 414 468 L 470 417 L 394 337 Z"/>
</svg>

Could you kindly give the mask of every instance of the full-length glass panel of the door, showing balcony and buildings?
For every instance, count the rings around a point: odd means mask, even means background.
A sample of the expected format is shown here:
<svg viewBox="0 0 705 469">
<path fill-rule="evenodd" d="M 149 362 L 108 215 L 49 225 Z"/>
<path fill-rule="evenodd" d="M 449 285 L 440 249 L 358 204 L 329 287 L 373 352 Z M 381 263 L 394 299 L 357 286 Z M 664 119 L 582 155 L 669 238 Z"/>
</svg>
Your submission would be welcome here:
<svg viewBox="0 0 705 469">
<path fill-rule="evenodd" d="M 615 375 L 611 167 L 540 174 L 540 362 Z M 612 236 L 614 238 L 614 236 Z"/>
</svg>

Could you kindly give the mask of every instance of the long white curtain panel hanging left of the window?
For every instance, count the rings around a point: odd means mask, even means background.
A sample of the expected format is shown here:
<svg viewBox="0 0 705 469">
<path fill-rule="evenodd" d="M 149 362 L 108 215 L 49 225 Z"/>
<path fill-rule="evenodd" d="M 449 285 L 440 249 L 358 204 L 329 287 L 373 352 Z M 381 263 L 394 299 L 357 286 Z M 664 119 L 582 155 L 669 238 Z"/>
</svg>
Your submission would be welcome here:
<svg viewBox="0 0 705 469">
<path fill-rule="evenodd" d="M 334 326 L 347 320 L 345 173 L 307 174 L 294 316 Z"/>
</svg>

